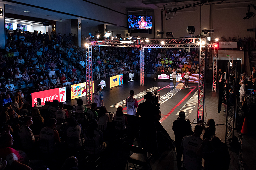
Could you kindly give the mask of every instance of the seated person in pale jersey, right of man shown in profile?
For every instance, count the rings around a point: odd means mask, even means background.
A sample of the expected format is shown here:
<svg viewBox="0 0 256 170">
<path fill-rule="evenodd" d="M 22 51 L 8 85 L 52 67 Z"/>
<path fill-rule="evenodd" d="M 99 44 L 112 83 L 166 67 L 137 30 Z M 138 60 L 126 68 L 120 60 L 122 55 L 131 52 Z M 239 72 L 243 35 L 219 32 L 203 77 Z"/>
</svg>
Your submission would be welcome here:
<svg viewBox="0 0 256 170">
<path fill-rule="evenodd" d="M 57 126 L 57 120 L 51 118 L 47 121 L 47 126 L 40 131 L 39 140 L 47 140 L 49 142 L 49 148 L 40 146 L 42 153 L 54 153 L 56 151 L 56 143 L 60 143 L 60 137 L 58 131 L 55 130 Z M 49 150 L 48 150 L 49 149 Z"/>
</svg>

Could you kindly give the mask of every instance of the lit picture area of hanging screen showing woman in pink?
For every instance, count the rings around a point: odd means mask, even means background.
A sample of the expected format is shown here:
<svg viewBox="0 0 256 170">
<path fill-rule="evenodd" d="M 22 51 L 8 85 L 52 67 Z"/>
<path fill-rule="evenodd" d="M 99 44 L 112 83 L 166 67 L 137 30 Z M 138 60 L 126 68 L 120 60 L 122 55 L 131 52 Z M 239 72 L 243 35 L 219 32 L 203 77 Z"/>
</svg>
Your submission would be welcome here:
<svg viewBox="0 0 256 170">
<path fill-rule="evenodd" d="M 152 16 L 128 15 L 127 28 L 152 29 Z"/>
</svg>

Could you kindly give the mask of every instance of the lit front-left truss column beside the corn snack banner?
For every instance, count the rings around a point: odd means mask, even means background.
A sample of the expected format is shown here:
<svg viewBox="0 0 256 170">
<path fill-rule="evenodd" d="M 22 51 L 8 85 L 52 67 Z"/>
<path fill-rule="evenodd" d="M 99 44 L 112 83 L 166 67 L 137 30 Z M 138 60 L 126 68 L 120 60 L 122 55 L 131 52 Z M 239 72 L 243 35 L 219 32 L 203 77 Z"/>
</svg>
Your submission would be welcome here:
<svg viewBox="0 0 256 170">
<path fill-rule="evenodd" d="M 86 47 L 86 103 L 90 106 L 93 102 L 93 50 L 92 46 Z"/>
</svg>

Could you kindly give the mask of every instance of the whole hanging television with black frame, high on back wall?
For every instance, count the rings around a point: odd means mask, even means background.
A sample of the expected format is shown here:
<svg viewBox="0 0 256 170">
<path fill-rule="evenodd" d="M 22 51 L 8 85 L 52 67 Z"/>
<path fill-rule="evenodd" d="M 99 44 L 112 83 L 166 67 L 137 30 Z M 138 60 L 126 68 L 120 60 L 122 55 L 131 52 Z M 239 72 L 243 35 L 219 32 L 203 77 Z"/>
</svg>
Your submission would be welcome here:
<svg viewBox="0 0 256 170">
<path fill-rule="evenodd" d="M 127 16 L 128 33 L 149 33 L 152 30 L 152 16 L 128 15 Z"/>
</svg>

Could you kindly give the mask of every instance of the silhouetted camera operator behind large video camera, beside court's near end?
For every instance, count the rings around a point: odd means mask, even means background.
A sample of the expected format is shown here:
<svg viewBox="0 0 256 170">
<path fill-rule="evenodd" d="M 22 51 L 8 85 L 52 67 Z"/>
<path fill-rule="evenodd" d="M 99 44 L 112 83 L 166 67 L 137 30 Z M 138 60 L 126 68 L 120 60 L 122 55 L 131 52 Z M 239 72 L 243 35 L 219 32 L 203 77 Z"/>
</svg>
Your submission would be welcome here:
<svg viewBox="0 0 256 170">
<path fill-rule="evenodd" d="M 140 119 L 140 139 L 141 147 L 152 154 L 159 154 L 156 141 L 156 125 L 155 122 L 160 120 L 161 111 L 151 101 L 153 95 L 151 92 L 146 92 L 144 96 L 145 102 L 139 104 L 137 116 Z"/>
</svg>

